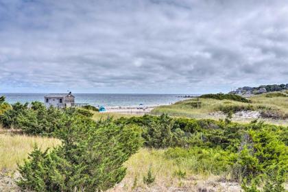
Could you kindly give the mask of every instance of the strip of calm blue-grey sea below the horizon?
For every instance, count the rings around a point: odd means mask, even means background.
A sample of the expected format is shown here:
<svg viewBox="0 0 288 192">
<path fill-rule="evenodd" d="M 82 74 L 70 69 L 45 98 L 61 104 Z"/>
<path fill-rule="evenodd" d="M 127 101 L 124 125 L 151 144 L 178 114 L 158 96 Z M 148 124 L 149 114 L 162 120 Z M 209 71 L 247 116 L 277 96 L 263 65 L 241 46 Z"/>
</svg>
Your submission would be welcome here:
<svg viewBox="0 0 288 192">
<path fill-rule="evenodd" d="M 0 93 L 4 95 L 8 103 L 13 104 L 17 101 L 21 103 L 40 101 L 44 102 L 46 93 Z M 171 104 L 183 98 L 181 94 L 98 94 L 98 93 L 73 93 L 75 103 L 90 104 L 93 106 L 138 106 Z M 191 95 L 191 94 L 189 94 Z M 196 96 L 196 95 L 195 95 Z"/>
</svg>

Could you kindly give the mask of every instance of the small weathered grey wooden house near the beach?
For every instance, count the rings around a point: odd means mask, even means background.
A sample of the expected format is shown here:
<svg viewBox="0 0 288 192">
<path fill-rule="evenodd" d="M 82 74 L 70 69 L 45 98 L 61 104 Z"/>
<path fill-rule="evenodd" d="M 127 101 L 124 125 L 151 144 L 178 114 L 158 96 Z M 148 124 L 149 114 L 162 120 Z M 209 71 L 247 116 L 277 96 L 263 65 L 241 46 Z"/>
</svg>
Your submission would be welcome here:
<svg viewBox="0 0 288 192">
<path fill-rule="evenodd" d="M 66 108 L 75 106 L 75 97 L 70 93 L 53 93 L 45 95 L 44 104 L 48 108 Z"/>
</svg>

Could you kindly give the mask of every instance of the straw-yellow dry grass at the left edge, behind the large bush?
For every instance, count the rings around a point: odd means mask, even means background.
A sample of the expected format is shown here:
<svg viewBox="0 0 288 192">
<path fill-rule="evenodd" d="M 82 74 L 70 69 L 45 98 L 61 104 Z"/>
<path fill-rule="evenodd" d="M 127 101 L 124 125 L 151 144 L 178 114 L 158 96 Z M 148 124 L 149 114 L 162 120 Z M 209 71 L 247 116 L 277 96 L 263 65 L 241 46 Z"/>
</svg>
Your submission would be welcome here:
<svg viewBox="0 0 288 192">
<path fill-rule="evenodd" d="M 59 145 L 60 141 L 40 136 L 0 134 L 0 170 L 15 170 L 17 163 L 27 158 L 35 144 L 44 150 Z"/>
</svg>

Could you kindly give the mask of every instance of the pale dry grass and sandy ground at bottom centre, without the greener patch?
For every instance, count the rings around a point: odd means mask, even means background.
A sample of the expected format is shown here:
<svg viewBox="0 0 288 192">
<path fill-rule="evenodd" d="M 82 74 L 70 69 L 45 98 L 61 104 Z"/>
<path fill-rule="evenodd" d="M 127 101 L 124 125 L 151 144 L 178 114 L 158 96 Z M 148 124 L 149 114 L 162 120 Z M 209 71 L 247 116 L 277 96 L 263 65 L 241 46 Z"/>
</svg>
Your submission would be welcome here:
<svg viewBox="0 0 288 192">
<path fill-rule="evenodd" d="M 240 191 L 237 183 L 220 182 L 224 176 L 195 173 L 193 169 L 197 166 L 197 162 L 193 163 L 191 159 L 185 159 L 183 162 L 169 160 L 164 157 L 164 152 L 165 149 L 140 149 L 125 163 L 128 169 L 123 181 L 109 191 L 199 191 L 200 189 L 231 191 L 230 184 L 236 186 L 235 191 Z M 149 167 L 152 167 L 155 182 L 148 186 L 143 183 L 143 176 L 147 176 Z M 187 173 L 184 178 L 175 175 L 179 170 Z"/>
</svg>

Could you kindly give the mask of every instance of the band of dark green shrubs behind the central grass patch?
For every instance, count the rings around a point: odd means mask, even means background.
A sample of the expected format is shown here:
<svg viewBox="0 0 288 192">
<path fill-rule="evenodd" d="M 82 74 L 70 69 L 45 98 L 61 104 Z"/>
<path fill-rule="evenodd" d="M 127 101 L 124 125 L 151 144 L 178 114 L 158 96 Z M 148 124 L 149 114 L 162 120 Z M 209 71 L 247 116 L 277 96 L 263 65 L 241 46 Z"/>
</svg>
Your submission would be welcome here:
<svg viewBox="0 0 288 192">
<path fill-rule="evenodd" d="M 245 129 L 245 126 L 239 123 L 224 123 L 211 119 L 173 119 L 167 115 L 121 118 L 115 122 L 141 126 L 144 145 L 154 148 L 206 145 L 220 146 L 223 149 L 230 147 L 237 151 L 241 130 Z"/>
</svg>

